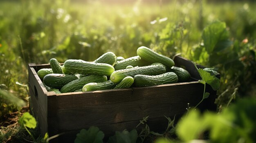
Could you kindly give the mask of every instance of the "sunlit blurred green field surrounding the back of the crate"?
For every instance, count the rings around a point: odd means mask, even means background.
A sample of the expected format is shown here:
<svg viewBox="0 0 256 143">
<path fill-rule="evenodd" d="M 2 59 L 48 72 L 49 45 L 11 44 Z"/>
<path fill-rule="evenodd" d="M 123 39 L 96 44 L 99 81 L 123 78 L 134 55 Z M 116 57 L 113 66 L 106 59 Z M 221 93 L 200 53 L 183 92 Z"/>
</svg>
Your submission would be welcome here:
<svg viewBox="0 0 256 143">
<path fill-rule="evenodd" d="M 51 58 L 94 61 L 108 51 L 128 58 L 146 46 L 215 68 L 218 112 L 244 97 L 255 100 L 254 9 L 245 1 L 0 1 L 0 142 L 24 137 L 24 129 L 4 125 L 5 115 L 20 110 L 18 101 L 29 104 L 27 65 Z"/>
</svg>

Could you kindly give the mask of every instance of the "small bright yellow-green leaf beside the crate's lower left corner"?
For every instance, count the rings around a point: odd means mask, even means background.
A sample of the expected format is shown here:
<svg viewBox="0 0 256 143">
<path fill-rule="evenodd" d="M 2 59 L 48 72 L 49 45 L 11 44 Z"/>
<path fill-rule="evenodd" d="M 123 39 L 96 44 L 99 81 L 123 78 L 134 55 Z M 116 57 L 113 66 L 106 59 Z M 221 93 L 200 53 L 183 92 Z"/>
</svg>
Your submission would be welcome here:
<svg viewBox="0 0 256 143">
<path fill-rule="evenodd" d="M 22 117 L 19 119 L 19 124 L 21 126 L 26 126 L 27 128 L 36 128 L 36 119 L 29 114 L 29 112 L 25 112 Z"/>
</svg>

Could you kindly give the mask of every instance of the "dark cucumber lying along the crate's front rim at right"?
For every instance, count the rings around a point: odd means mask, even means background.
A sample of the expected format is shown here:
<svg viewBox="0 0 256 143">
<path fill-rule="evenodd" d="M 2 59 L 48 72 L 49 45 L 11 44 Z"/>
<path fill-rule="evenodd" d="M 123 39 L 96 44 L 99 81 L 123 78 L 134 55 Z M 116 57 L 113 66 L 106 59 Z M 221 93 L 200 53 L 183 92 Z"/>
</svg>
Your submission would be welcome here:
<svg viewBox="0 0 256 143">
<path fill-rule="evenodd" d="M 135 75 L 133 78 L 136 87 L 173 84 L 178 81 L 177 75 L 173 72 L 161 75 Z"/>
</svg>

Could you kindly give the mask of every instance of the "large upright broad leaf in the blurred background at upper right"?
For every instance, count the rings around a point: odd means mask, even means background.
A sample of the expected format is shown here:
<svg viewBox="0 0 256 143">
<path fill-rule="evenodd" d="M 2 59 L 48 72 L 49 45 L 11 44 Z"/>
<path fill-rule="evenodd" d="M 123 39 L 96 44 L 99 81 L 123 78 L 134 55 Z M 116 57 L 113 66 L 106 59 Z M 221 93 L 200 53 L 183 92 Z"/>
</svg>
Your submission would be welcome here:
<svg viewBox="0 0 256 143">
<path fill-rule="evenodd" d="M 204 28 L 202 33 L 202 39 L 204 40 L 204 47 L 207 53 L 213 53 L 214 51 L 221 51 L 222 49 L 230 46 L 231 44 L 226 41 L 225 44 L 219 44 L 228 40 L 229 32 L 226 29 L 225 22 L 216 21 Z M 224 46 L 222 46 L 224 45 Z M 218 46 L 216 48 L 216 46 Z"/>
</svg>

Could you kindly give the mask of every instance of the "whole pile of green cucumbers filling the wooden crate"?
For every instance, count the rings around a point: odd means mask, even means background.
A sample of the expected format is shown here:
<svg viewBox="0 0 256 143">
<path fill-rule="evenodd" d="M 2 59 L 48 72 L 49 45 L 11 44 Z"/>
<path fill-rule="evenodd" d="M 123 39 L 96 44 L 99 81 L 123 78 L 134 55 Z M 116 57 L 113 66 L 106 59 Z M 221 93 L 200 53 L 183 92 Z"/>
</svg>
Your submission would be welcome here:
<svg viewBox="0 0 256 143">
<path fill-rule="evenodd" d="M 171 58 L 141 46 L 137 56 L 124 59 L 107 52 L 94 62 L 68 59 L 61 66 L 50 59 L 51 68 L 37 74 L 47 91 L 56 93 L 144 87 L 190 81 L 187 70 L 174 66 Z"/>
</svg>

